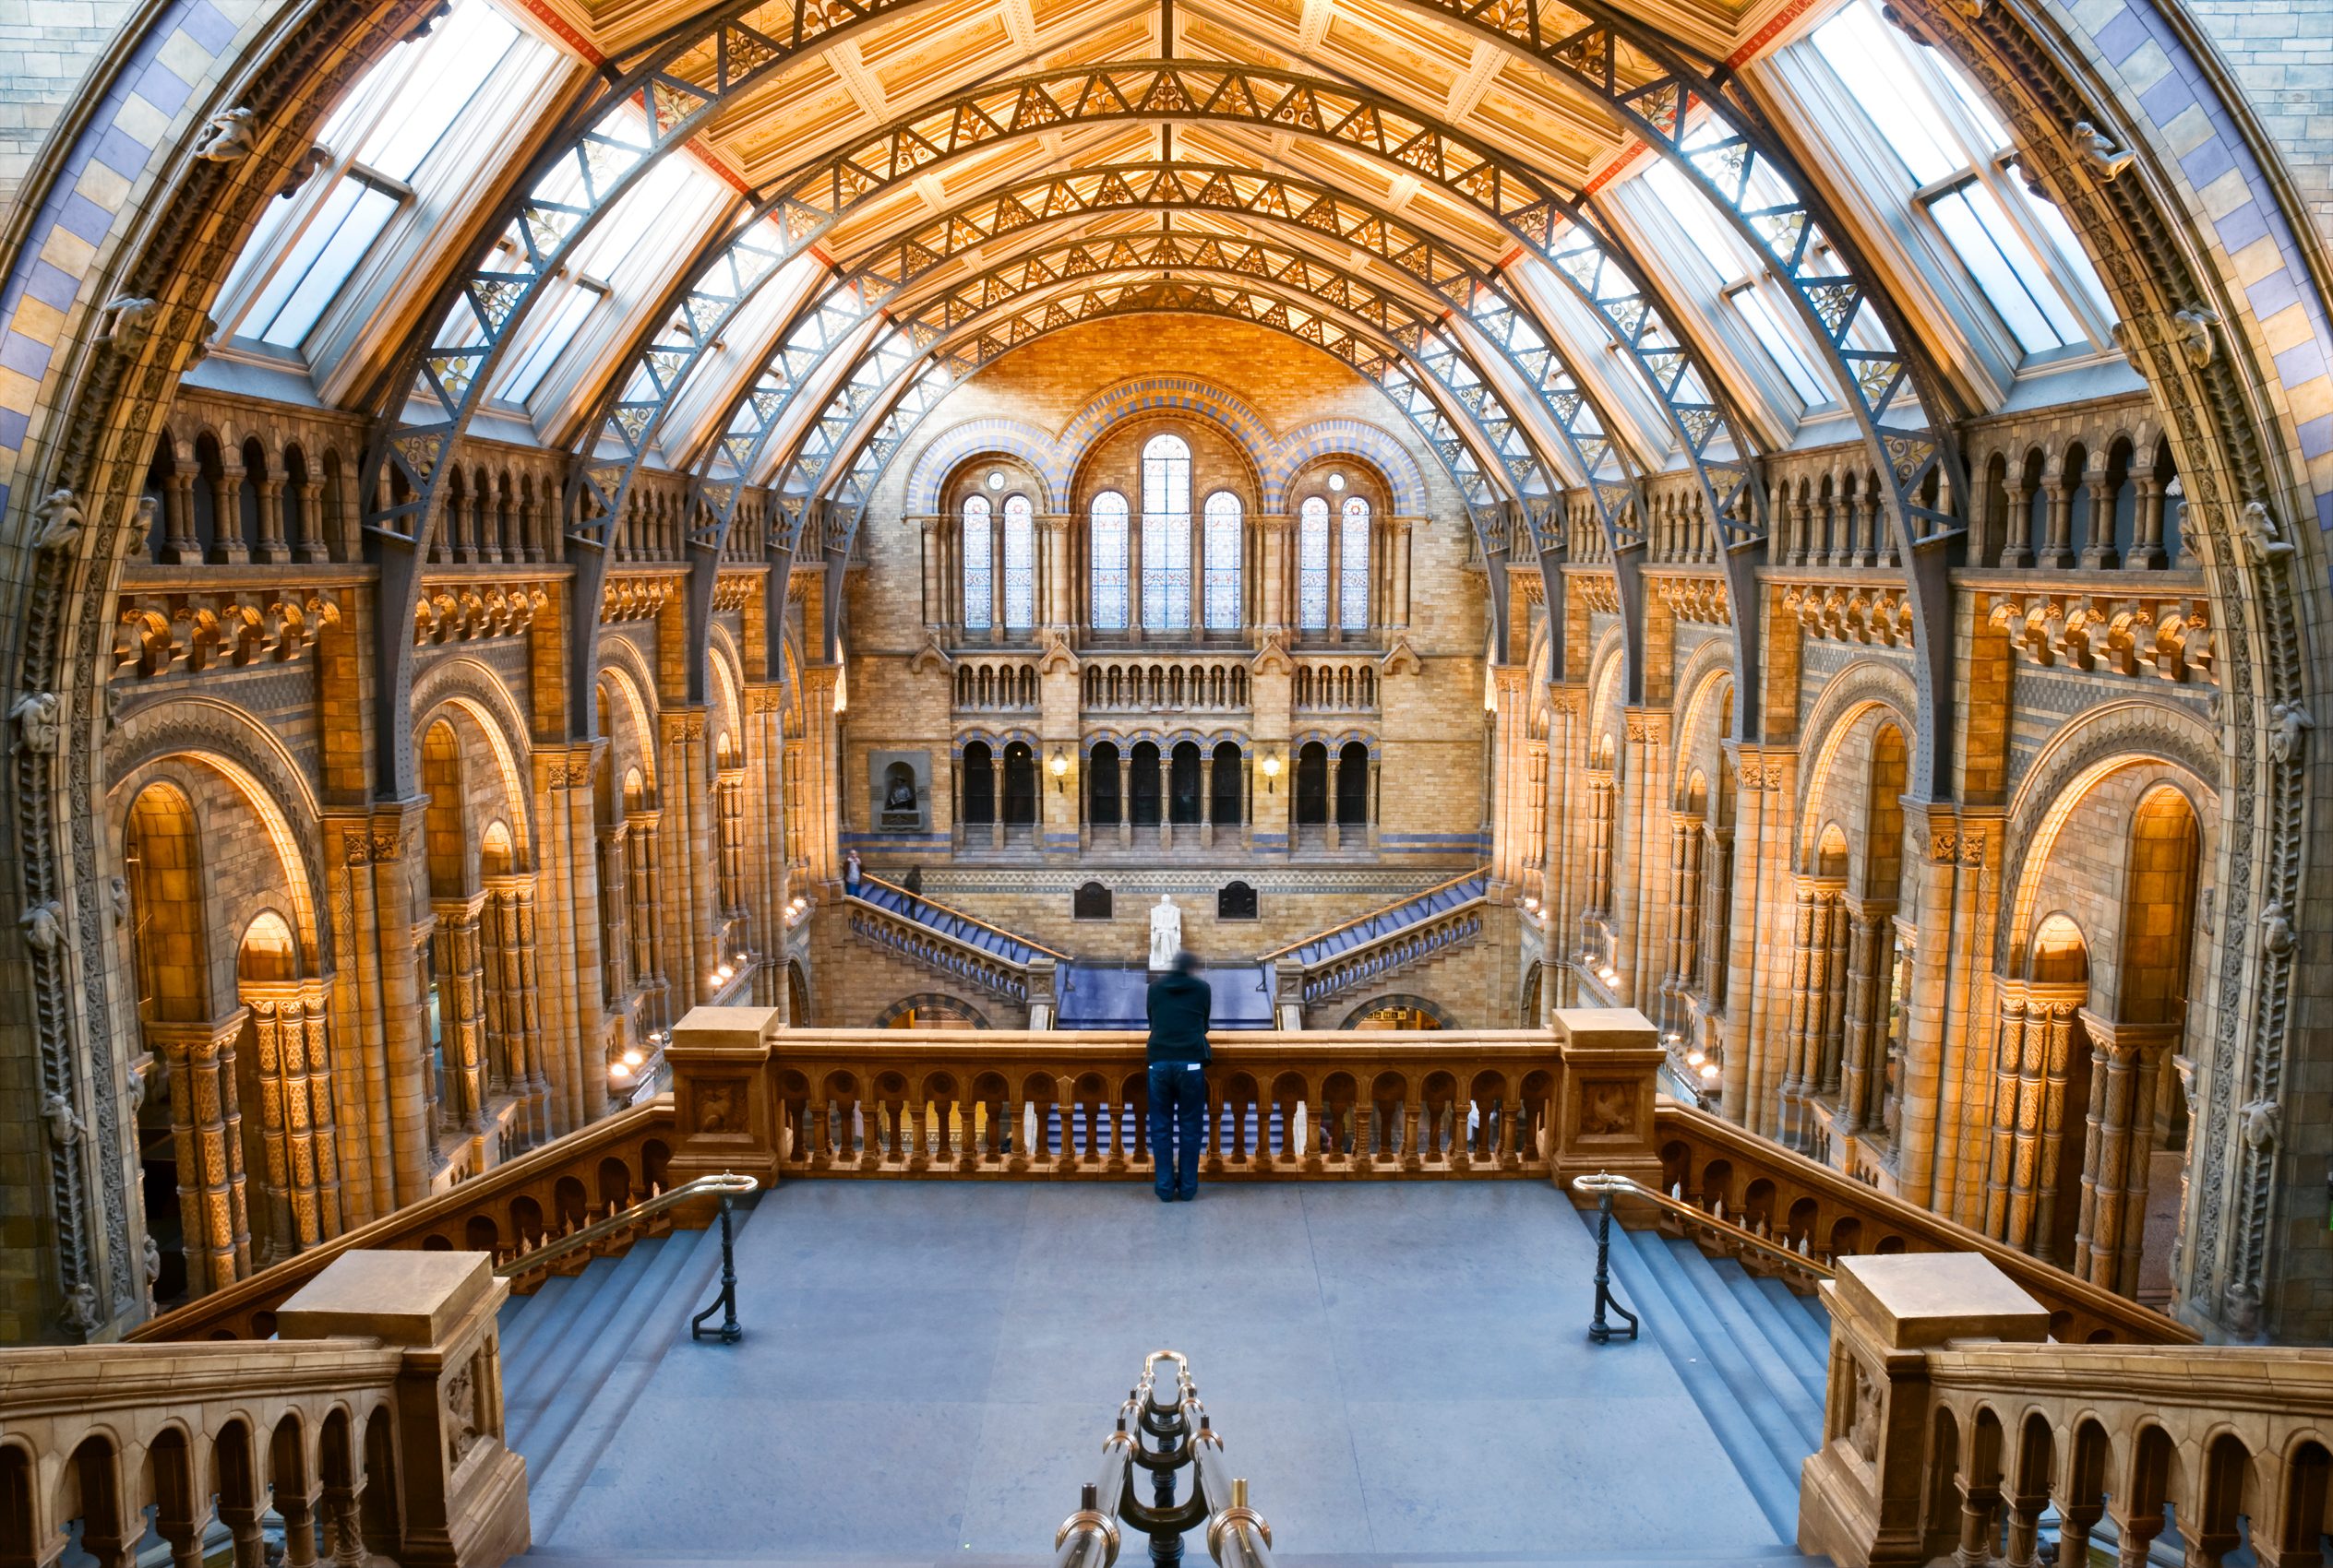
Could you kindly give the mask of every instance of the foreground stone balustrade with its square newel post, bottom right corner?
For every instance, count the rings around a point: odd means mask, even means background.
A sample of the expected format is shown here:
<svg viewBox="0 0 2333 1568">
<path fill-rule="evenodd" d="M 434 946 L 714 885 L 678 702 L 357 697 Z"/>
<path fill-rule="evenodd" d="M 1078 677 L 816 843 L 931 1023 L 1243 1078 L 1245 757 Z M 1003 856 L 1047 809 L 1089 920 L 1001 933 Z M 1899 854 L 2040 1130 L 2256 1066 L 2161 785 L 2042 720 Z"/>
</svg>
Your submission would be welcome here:
<svg viewBox="0 0 2333 1568">
<path fill-rule="evenodd" d="M 1841 1568 L 2055 1561 L 2319 1568 L 2333 1351 L 2044 1342 L 1978 1253 L 1841 1260 L 1799 1547 Z"/>
</svg>

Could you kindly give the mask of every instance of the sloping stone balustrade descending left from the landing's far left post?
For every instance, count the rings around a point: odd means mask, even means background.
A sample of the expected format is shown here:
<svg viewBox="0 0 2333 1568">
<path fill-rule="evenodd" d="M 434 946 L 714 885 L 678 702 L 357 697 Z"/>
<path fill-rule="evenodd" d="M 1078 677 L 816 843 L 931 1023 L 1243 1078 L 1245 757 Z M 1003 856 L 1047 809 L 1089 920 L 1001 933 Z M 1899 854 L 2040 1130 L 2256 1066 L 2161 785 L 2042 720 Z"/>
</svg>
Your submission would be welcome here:
<svg viewBox="0 0 2333 1568">
<path fill-rule="evenodd" d="M 142 1323 L 128 1339 L 266 1339 L 282 1332 L 282 1304 L 336 1258 L 355 1251 L 490 1253 L 509 1272 L 513 1290 L 532 1293 L 551 1274 L 530 1272 L 525 1255 L 593 1220 L 616 1218 L 667 1188 L 670 1150 L 672 1099 L 658 1097 L 196 1297 Z M 705 1223 L 705 1216 L 686 1216 L 681 1223 L 688 1218 Z M 637 1230 L 616 1227 L 593 1253 L 565 1255 L 558 1272 L 579 1272 L 593 1255 L 621 1253 L 639 1237 L 672 1225 L 674 1211 L 642 1216 Z M 7 1559 L 0 1556 L 0 1563 Z"/>
</svg>

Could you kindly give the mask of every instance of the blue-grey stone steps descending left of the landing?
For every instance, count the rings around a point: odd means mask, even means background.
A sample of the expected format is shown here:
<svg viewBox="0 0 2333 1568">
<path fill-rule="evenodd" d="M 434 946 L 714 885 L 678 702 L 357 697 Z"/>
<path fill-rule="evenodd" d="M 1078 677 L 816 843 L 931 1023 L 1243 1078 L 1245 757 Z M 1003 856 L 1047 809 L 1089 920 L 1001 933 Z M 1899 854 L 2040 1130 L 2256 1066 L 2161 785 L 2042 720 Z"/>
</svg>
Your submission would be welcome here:
<svg viewBox="0 0 2333 1568">
<path fill-rule="evenodd" d="M 740 1220 L 747 1204 L 740 1204 Z M 674 1230 L 502 1304 L 504 1440 L 548 1540 L 677 1339 L 721 1288 L 721 1227 Z"/>
</svg>

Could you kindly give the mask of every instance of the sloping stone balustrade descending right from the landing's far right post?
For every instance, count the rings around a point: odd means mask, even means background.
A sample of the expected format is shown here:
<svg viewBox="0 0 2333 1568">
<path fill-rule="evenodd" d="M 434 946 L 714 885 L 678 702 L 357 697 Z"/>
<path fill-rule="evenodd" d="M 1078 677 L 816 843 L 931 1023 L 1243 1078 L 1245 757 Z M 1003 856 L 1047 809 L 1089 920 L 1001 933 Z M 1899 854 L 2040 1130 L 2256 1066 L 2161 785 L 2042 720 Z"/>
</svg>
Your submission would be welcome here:
<svg viewBox="0 0 2333 1568">
<path fill-rule="evenodd" d="M 2013 1246 L 1761 1139 L 1736 1122 L 1661 1101 L 1661 1190 L 1817 1262 L 1871 1253 L 1978 1253 L 2048 1309 L 2067 1344 L 2193 1344 L 2195 1332 Z"/>
</svg>

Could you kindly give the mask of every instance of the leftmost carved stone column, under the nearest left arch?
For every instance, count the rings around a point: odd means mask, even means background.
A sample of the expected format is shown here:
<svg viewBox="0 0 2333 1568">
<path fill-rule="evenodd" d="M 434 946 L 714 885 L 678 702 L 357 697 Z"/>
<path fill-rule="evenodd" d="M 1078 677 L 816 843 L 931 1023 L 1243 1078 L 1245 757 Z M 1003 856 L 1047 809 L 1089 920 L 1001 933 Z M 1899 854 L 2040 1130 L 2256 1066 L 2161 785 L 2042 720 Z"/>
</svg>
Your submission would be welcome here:
<svg viewBox="0 0 2333 1568">
<path fill-rule="evenodd" d="M 147 1050 L 170 1069 L 170 1143 L 189 1295 L 210 1295 L 252 1272 L 243 1190 L 243 1108 L 236 1036 L 250 1008 L 210 1022 L 145 1027 Z"/>
</svg>

